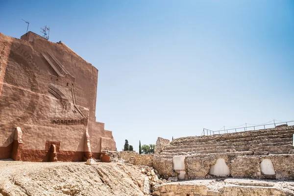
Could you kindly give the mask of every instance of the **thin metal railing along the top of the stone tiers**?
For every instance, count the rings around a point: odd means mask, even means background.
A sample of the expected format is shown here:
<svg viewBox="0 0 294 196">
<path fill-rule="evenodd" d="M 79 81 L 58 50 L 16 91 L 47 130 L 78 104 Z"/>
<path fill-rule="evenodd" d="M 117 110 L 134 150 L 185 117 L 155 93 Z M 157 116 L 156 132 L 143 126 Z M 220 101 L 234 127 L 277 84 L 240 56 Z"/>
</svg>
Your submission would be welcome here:
<svg viewBox="0 0 294 196">
<path fill-rule="evenodd" d="M 224 130 L 219 130 L 219 131 L 213 131 L 213 130 L 210 130 L 210 129 L 203 128 L 201 136 L 275 128 L 276 126 L 281 125 L 281 124 L 287 124 L 288 126 L 293 126 L 294 121 L 287 121 L 287 122 L 282 122 L 282 123 L 275 123 L 274 122 L 274 123 L 270 123 L 270 124 L 260 124 L 260 125 L 255 125 L 255 126 L 245 126 L 245 127 L 239 127 L 239 128 L 224 129 Z"/>
</svg>

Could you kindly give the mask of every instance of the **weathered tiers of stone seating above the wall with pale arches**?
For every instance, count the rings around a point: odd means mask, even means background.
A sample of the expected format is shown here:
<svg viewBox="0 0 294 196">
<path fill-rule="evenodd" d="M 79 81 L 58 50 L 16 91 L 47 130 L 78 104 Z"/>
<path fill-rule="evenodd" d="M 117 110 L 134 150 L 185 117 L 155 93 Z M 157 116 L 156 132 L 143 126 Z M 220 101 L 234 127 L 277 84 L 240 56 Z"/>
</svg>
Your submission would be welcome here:
<svg viewBox="0 0 294 196">
<path fill-rule="evenodd" d="M 293 149 L 294 126 L 174 139 L 160 155 L 243 152 L 245 155 L 288 154 Z"/>
</svg>

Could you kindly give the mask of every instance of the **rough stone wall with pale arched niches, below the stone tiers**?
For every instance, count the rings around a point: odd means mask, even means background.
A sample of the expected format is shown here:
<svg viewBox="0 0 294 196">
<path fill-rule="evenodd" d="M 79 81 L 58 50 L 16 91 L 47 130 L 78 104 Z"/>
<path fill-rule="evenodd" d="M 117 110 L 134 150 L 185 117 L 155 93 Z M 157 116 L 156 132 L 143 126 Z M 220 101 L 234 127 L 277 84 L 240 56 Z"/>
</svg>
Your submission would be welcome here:
<svg viewBox="0 0 294 196">
<path fill-rule="evenodd" d="M 218 160 L 223 159 L 224 166 L 218 165 L 216 168 L 228 173 L 223 176 L 236 178 L 258 178 L 258 179 L 294 179 L 294 154 L 271 154 L 271 155 L 242 155 L 239 153 L 207 154 L 184 156 L 184 171 L 188 174 L 188 179 L 212 178 L 218 176 L 212 172 L 212 166 Z M 266 168 L 262 168 L 262 162 L 266 160 Z M 179 173 L 174 168 L 173 156 L 154 155 L 153 167 L 162 177 L 178 176 Z M 223 167 L 223 168 L 222 168 Z M 220 169 L 221 168 L 221 169 Z M 217 170 L 216 170 L 217 171 Z M 268 173 L 271 171 L 270 173 Z M 222 174 L 220 175 L 222 176 Z"/>
</svg>

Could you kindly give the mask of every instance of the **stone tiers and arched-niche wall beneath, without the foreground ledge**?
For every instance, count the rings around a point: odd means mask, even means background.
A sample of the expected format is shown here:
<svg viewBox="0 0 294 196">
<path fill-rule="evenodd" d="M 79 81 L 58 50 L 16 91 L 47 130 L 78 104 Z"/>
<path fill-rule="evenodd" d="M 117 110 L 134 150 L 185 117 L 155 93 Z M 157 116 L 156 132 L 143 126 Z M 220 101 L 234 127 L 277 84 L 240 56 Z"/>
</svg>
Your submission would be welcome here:
<svg viewBox="0 0 294 196">
<path fill-rule="evenodd" d="M 293 134 L 294 126 L 283 125 L 256 131 L 177 138 L 170 143 L 158 138 L 153 168 L 163 178 L 226 176 L 293 180 Z"/>
</svg>

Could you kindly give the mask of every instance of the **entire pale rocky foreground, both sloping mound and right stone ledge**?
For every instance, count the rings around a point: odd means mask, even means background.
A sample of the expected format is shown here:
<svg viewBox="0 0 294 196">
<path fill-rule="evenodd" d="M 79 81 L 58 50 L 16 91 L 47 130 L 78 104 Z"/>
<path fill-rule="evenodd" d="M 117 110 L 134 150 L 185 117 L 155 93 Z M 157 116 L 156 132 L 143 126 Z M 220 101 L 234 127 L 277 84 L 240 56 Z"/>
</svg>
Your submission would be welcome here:
<svg viewBox="0 0 294 196">
<path fill-rule="evenodd" d="M 294 196 L 293 181 L 219 178 L 164 183 L 152 180 L 157 176 L 153 171 L 123 163 L 0 160 L 0 196 L 145 196 L 154 181 L 153 196 Z"/>
</svg>

